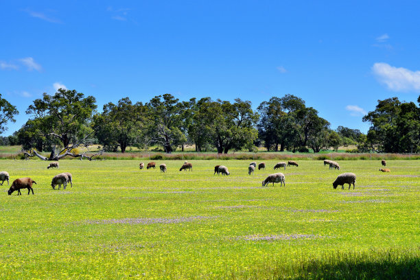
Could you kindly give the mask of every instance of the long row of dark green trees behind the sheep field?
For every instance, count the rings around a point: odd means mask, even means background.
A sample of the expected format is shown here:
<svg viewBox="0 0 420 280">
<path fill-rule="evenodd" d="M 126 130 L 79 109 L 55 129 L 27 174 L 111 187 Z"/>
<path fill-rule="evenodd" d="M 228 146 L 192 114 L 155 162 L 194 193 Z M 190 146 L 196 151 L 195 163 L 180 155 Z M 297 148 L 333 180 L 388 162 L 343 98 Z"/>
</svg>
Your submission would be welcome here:
<svg viewBox="0 0 420 280">
<path fill-rule="evenodd" d="M 54 152 L 60 147 L 60 152 L 68 153 L 81 144 L 100 144 L 113 152 L 159 145 L 170 153 L 191 144 L 198 152 L 215 149 L 218 153 L 256 151 L 257 146 L 320 152 L 341 145 L 355 145 L 354 152 L 420 152 L 420 108 L 397 97 L 378 100 L 376 109 L 363 118 L 371 124 L 367 135 L 342 126 L 331 130 L 329 121 L 294 95 L 272 97 L 257 110 L 239 98 L 180 101 L 170 94 L 145 104 L 126 97 L 104 105 L 102 113 L 96 109 L 95 97 L 74 90 L 44 93 L 27 108 L 30 119 L 14 137 L 25 150 Z"/>
</svg>

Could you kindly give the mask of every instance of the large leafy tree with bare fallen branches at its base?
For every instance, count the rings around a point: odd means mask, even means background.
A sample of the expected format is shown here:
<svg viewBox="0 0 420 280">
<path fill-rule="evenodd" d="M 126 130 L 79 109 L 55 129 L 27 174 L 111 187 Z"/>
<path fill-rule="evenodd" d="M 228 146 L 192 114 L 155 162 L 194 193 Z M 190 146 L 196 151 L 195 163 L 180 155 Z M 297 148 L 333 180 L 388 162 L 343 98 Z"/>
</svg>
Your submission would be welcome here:
<svg viewBox="0 0 420 280">
<path fill-rule="evenodd" d="M 87 157 L 86 154 L 74 154 L 73 149 L 79 146 L 87 147 L 93 130 L 89 125 L 95 110 L 95 97 L 84 97 L 75 90 L 58 89 L 54 95 L 43 94 L 42 99 L 34 100 L 26 113 L 32 115 L 27 121 L 32 131 L 32 137 L 40 137 L 52 143 L 53 148 L 49 158 L 34 154 L 44 160 L 58 160 L 64 156 Z M 59 146 L 60 152 L 55 153 Z M 33 156 L 32 153 L 27 153 Z"/>
</svg>

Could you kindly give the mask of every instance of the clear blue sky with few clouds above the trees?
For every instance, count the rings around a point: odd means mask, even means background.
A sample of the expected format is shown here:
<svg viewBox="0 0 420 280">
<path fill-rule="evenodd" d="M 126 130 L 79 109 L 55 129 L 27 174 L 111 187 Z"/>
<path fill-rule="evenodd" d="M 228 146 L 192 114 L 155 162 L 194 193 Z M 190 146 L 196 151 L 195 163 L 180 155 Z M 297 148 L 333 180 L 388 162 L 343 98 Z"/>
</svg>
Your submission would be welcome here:
<svg viewBox="0 0 420 280">
<path fill-rule="evenodd" d="M 377 100 L 420 92 L 417 1 L 0 1 L 0 93 L 65 86 L 108 102 L 299 96 L 362 132 Z M 417 102 L 416 102 L 417 103 Z"/>
</svg>

